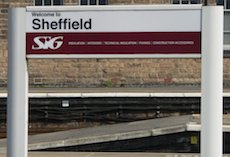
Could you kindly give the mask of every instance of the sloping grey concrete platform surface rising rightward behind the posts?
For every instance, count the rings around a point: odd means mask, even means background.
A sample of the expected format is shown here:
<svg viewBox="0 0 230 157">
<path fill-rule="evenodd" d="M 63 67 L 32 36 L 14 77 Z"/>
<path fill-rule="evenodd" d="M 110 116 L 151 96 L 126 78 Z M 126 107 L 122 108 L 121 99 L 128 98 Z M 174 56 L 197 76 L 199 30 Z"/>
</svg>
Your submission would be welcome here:
<svg viewBox="0 0 230 157">
<path fill-rule="evenodd" d="M 230 117 L 224 116 L 223 121 L 223 130 L 230 132 Z M 32 135 L 29 136 L 29 150 L 128 140 L 185 131 L 200 131 L 199 115 L 175 116 Z M 6 139 L 2 139 L 0 152 L 5 152 L 5 150 Z"/>
</svg>

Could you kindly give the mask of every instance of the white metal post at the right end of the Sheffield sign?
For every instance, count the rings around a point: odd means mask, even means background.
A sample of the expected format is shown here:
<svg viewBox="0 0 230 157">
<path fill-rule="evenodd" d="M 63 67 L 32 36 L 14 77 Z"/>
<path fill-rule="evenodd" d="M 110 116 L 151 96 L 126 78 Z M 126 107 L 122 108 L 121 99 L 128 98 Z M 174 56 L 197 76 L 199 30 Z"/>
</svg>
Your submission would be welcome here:
<svg viewBox="0 0 230 157">
<path fill-rule="evenodd" d="M 223 154 L 223 7 L 202 9 L 201 157 Z"/>
</svg>

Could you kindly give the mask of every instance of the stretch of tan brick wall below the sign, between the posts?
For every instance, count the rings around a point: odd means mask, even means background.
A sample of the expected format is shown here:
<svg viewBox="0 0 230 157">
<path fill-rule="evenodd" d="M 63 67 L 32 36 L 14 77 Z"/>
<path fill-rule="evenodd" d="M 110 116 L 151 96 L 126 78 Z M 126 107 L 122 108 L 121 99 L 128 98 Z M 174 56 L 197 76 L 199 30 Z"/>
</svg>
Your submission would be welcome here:
<svg viewBox="0 0 230 157">
<path fill-rule="evenodd" d="M 199 84 L 197 59 L 30 60 L 30 83 L 38 87 L 152 87 Z"/>
</svg>

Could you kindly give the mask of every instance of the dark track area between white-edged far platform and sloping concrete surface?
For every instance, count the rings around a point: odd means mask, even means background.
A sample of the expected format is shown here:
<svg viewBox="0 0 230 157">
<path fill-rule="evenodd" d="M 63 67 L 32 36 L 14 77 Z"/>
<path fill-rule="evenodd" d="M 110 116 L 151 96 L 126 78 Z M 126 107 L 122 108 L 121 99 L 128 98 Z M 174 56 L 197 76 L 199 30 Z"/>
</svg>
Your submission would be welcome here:
<svg viewBox="0 0 230 157">
<path fill-rule="evenodd" d="M 229 112 L 230 98 L 226 97 L 224 113 Z M 199 113 L 199 97 L 30 98 L 29 134 Z M 0 138 L 4 138 L 6 98 L 0 99 L 0 124 Z"/>
</svg>

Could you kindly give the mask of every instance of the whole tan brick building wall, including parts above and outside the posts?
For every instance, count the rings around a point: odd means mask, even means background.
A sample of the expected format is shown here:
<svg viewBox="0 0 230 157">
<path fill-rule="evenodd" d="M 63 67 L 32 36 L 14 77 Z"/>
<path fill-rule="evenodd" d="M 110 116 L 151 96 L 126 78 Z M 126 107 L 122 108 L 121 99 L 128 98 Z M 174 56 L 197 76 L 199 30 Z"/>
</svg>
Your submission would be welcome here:
<svg viewBox="0 0 230 157">
<path fill-rule="evenodd" d="M 109 0 L 109 4 L 169 3 L 170 0 Z M 213 2 L 213 1 L 212 1 Z M 76 5 L 78 0 L 65 0 Z M 0 0 L 0 87 L 7 86 L 7 8 L 31 0 Z M 199 85 L 200 59 L 30 59 L 30 87 L 156 87 Z M 224 60 L 230 85 L 230 59 Z"/>
</svg>

